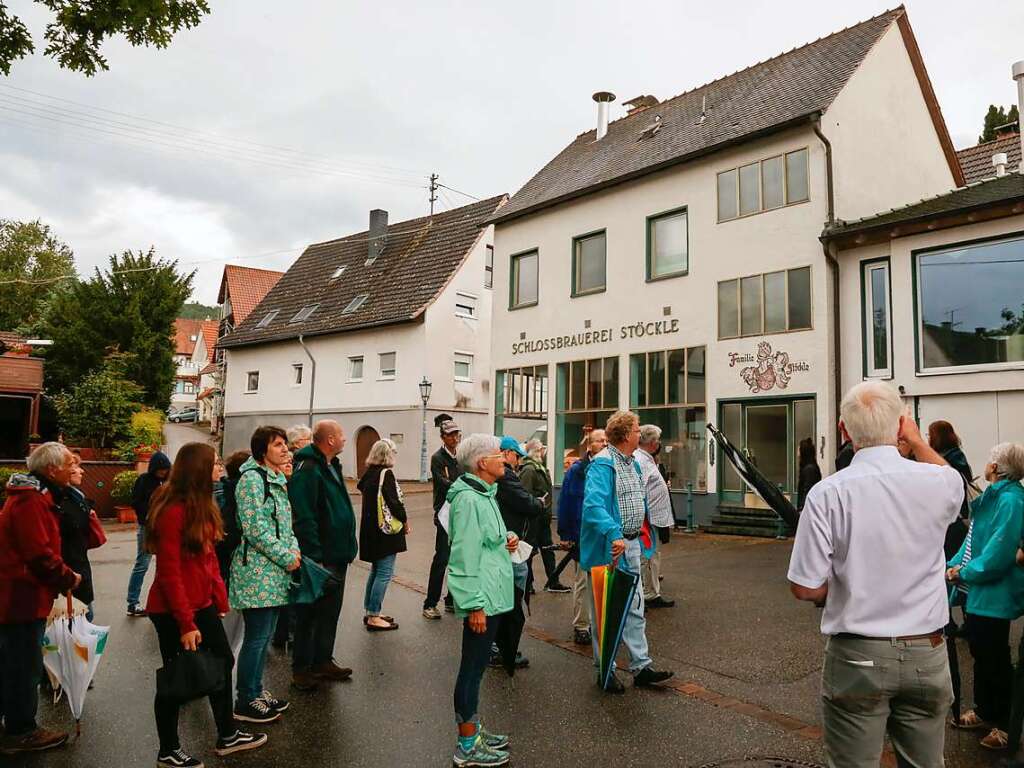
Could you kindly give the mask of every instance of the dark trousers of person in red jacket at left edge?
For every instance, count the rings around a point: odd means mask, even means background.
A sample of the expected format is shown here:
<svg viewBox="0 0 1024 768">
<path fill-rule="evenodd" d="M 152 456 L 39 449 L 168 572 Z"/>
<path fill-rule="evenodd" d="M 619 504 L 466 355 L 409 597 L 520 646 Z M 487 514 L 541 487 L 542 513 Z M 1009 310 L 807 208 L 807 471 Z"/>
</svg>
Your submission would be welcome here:
<svg viewBox="0 0 1024 768">
<path fill-rule="evenodd" d="M 8 736 L 24 736 L 36 730 L 45 629 L 42 618 L 0 624 L 0 717 L 6 723 Z"/>
</svg>

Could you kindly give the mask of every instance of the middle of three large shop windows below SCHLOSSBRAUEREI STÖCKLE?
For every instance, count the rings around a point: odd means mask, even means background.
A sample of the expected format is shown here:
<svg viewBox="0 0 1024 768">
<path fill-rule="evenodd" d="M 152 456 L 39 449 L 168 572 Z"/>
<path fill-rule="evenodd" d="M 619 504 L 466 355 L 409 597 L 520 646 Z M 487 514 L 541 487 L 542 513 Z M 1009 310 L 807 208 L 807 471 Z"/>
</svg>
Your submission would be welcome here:
<svg viewBox="0 0 1024 768">
<path fill-rule="evenodd" d="M 580 455 L 584 436 L 603 429 L 618 409 L 618 358 L 559 362 L 555 408 L 555 477 L 560 482 L 565 455 Z"/>
</svg>

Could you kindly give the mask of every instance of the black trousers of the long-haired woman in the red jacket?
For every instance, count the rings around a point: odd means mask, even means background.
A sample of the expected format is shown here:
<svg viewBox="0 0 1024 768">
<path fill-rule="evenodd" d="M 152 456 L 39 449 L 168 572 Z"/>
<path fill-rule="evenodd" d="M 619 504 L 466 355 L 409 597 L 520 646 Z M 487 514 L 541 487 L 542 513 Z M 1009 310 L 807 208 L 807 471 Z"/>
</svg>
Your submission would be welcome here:
<svg viewBox="0 0 1024 768">
<path fill-rule="evenodd" d="M 157 640 L 160 641 L 160 656 L 166 665 L 178 653 L 182 652 L 181 630 L 174 616 L 170 613 L 151 613 L 150 621 L 157 629 Z M 210 709 L 213 710 L 213 720 L 217 724 L 217 734 L 230 736 L 237 729 L 234 713 L 231 703 L 231 669 L 234 667 L 234 656 L 231 646 L 224 634 L 224 625 L 220 623 L 217 609 L 212 605 L 196 611 L 193 620 L 196 628 L 203 636 L 200 647 L 206 648 L 224 660 L 224 675 L 227 684 L 210 694 Z M 157 734 L 160 737 L 160 752 L 168 753 L 181 749 L 178 741 L 178 710 L 180 705 L 173 699 L 157 696 L 153 702 L 157 715 Z"/>
</svg>

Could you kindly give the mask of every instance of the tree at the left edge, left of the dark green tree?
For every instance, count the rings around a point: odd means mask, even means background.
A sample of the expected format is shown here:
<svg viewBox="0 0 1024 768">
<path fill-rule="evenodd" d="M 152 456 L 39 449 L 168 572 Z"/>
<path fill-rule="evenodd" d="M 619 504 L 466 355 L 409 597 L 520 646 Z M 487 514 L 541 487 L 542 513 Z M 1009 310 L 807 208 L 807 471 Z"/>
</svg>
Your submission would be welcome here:
<svg viewBox="0 0 1024 768">
<path fill-rule="evenodd" d="M 0 219 L 0 330 L 32 335 L 46 302 L 75 274 L 71 248 L 41 221 Z"/>
</svg>

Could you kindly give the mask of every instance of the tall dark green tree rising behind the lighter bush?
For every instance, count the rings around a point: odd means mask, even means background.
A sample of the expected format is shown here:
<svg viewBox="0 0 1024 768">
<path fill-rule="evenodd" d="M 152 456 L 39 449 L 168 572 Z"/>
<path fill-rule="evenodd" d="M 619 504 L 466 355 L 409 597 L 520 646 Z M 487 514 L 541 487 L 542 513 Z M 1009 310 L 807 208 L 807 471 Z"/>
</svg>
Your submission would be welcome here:
<svg viewBox="0 0 1024 768">
<path fill-rule="evenodd" d="M 111 351 L 130 352 L 124 376 L 142 388 L 141 401 L 166 410 L 174 386 L 174 318 L 191 293 L 195 271 L 179 274 L 176 261 L 148 252 L 111 256 L 50 304 L 42 333 L 53 340 L 46 354 L 46 388 L 70 391 L 97 370 Z"/>
</svg>

